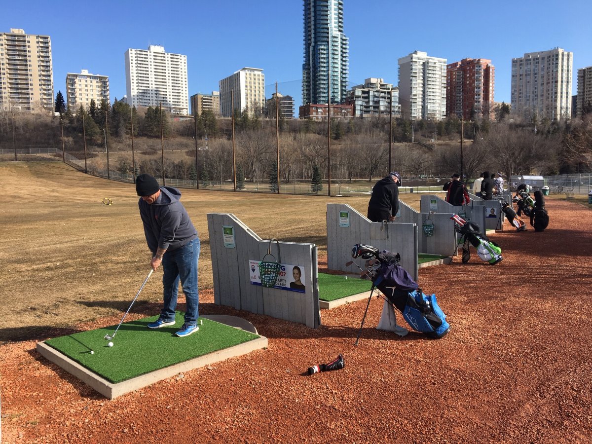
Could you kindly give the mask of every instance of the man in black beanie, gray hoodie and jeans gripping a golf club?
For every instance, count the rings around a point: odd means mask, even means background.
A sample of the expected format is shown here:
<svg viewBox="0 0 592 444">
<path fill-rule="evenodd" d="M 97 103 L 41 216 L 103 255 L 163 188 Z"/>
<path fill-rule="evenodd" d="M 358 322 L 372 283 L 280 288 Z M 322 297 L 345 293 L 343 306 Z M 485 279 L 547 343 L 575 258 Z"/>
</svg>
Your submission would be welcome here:
<svg viewBox="0 0 592 444">
<path fill-rule="evenodd" d="M 148 324 L 149 329 L 175 324 L 175 308 L 179 280 L 185 293 L 187 309 L 185 323 L 175 334 L 180 337 L 197 332 L 198 304 L 197 261 L 200 257 L 200 238 L 185 207 L 179 201 L 181 192 L 170 186 L 159 186 L 149 174 L 136 178 L 138 205 L 144 225 L 146 243 L 152 252 L 150 267 L 162 263 L 163 307 L 160 317 Z"/>
</svg>

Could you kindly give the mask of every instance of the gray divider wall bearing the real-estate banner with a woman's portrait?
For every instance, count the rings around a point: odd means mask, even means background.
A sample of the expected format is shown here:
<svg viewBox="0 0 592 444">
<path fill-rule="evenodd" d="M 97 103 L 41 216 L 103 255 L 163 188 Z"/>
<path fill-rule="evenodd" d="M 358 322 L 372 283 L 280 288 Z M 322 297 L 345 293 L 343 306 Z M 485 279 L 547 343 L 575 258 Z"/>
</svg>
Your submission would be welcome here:
<svg viewBox="0 0 592 444">
<path fill-rule="evenodd" d="M 304 293 L 253 285 L 250 282 L 249 260 L 262 260 L 268 251 L 269 240 L 261 239 L 234 214 L 209 213 L 207 219 L 215 304 L 285 319 L 315 329 L 320 326 L 315 244 L 280 242 L 281 260 L 277 243 L 271 245 L 271 253 L 277 262 L 301 268 L 306 287 Z M 223 226 L 234 228 L 234 248 L 224 246 Z M 273 258 L 268 256 L 266 260 Z M 286 273 L 291 278 L 292 270 Z"/>
</svg>

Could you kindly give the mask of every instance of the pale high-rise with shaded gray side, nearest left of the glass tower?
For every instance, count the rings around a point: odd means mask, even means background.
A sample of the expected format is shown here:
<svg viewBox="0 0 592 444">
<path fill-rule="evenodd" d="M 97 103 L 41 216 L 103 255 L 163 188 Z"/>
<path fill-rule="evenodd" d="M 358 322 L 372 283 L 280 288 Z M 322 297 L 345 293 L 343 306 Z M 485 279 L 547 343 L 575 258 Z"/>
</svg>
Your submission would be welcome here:
<svg viewBox="0 0 592 444">
<path fill-rule="evenodd" d="M 262 112 L 265 107 L 265 74 L 263 69 L 244 67 L 218 82 L 220 85 L 220 112 L 223 117 L 232 115 L 234 109 Z"/>
</svg>

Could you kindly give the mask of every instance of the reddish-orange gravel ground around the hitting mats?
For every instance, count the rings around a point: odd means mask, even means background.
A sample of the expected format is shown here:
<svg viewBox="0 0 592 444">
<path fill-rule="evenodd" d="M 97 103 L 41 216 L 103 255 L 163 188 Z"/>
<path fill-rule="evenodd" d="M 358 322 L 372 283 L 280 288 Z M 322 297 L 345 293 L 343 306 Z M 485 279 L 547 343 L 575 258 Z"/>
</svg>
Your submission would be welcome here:
<svg viewBox="0 0 592 444">
<path fill-rule="evenodd" d="M 451 324 L 440 340 L 375 330 L 381 300 L 355 347 L 366 301 L 323 311 L 311 330 L 216 307 L 202 292 L 202 314 L 246 318 L 269 348 L 113 401 L 41 358 L 33 341 L 1 346 L 4 442 L 590 442 L 592 212 L 547 207 L 543 233 L 491 236 L 503 248 L 496 266 L 473 249 L 466 265 L 421 269 Z M 337 353 L 345 369 L 302 374 Z"/>
</svg>

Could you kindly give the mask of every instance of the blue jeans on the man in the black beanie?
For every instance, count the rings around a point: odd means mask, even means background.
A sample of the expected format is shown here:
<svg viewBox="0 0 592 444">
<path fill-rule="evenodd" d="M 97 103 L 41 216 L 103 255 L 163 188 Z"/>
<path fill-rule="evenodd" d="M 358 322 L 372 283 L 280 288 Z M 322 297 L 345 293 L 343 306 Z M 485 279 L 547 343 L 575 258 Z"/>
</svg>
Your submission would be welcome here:
<svg viewBox="0 0 592 444">
<path fill-rule="evenodd" d="M 160 311 L 160 318 L 165 322 L 175 320 L 177 293 L 179 281 L 181 281 L 187 305 L 185 324 L 195 325 L 197 323 L 200 303 L 197 289 L 197 260 L 199 258 L 200 239 L 194 239 L 179 249 L 166 252 L 162 257 L 164 304 L 162 311 Z"/>
</svg>

